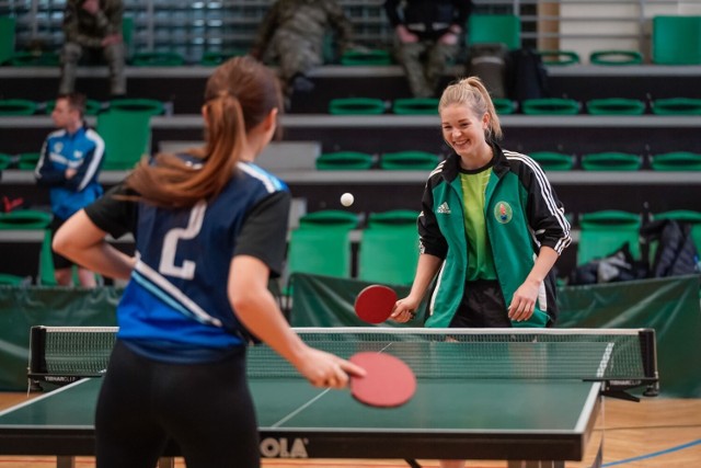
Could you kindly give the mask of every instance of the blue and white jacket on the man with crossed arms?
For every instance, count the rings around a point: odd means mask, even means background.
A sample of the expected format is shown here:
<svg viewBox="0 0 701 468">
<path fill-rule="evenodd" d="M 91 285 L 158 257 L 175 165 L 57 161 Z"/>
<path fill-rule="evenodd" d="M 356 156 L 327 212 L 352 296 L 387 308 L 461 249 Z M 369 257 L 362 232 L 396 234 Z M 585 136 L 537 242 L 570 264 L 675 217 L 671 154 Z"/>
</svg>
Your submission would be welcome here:
<svg viewBox="0 0 701 468">
<path fill-rule="evenodd" d="M 74 134 L 65 129 L 49 134 L 34 175 L 39 185 L 49 187 L 54 215 L 68 219 L 102 195 L 97 175 L 104 153 L 100 135 L 85 126 Z M 76 169 L 76 175 L 66 179 L 67 169 Z"/>
</svg>

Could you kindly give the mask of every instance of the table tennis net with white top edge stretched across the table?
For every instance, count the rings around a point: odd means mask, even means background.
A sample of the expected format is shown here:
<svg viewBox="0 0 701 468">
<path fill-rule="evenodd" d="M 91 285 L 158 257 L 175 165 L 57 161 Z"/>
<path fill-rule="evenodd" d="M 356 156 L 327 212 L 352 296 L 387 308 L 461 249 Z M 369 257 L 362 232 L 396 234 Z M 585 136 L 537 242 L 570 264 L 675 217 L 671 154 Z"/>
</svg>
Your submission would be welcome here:
<svg viewBox="0 0 701 468">
<path fill-rule="evenodd" d="M 418 378 L 657 380 L 654 330 L 631 329 L 296 329 L 310 345 L 349 357 L 390 353 Z M 107 368 L 116 328 L 35 327 L 30 374 L 95 376 Z M 267 345 L 249 350 L 249 375 L 299 377 Z"/>
</svg>

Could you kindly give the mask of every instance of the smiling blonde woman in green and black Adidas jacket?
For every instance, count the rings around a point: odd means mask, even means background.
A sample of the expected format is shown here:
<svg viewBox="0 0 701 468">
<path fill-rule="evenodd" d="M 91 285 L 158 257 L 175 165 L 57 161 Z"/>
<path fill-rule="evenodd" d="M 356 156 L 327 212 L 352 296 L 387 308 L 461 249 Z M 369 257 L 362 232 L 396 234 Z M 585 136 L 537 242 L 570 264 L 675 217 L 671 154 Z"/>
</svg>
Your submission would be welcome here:
<svg viewBox="0 0 701 468">
<path fill-rule="evenodd" d="M 426 327 L 551 326 L 551 270 L 570 244 L 562 204 L 531 158 L 498 146 L 499 119 L 479 78 L 446 88 L 438 111 L 452 152 L 428 176 L 417 222 L 418 266 L 393 319 L 412 318 L 435 279 Z"/>
</svg>

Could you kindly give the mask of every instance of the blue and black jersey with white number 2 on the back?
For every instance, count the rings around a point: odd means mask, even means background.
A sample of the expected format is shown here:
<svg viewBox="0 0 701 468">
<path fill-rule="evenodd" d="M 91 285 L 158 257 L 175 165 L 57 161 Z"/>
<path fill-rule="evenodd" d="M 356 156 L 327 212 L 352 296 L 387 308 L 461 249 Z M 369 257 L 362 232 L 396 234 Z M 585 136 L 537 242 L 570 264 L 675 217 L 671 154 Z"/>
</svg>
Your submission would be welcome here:
<svg viewBox="0 0 701 468">
<path fill-rule="evenodd" d="M 85 209 L 102 230 L 134 232 L 137 265 L 117 307 L 117 336 L 166 362 L 207 362 L 251 336 L 229 303 L 233 256 L 263 261 L 279 275 L 290 194 L 280 180 L 241 162 L 222 192 L 192 208 L 115 199 L 124 185 Z"/>
</svg>

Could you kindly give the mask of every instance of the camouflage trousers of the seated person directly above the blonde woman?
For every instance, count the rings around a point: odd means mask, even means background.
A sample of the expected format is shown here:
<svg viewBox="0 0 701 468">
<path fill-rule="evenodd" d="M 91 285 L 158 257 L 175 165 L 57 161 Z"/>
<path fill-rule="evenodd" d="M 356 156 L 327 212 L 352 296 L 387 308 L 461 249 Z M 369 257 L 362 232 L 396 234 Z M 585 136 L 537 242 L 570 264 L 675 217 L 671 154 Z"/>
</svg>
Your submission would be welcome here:
<svg viewBox="0 0 701 468">
<path fill-rule="evenodd" d="M 414 98 L 434 98 L 440 78 L 458 55 L 458 45 L 440 44 L 437 41 L 395 43 L 397 61 L 402 65 Z"/>
</svg>

